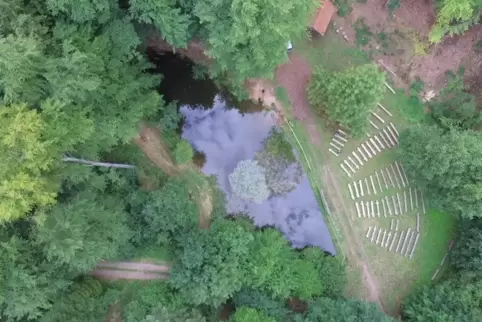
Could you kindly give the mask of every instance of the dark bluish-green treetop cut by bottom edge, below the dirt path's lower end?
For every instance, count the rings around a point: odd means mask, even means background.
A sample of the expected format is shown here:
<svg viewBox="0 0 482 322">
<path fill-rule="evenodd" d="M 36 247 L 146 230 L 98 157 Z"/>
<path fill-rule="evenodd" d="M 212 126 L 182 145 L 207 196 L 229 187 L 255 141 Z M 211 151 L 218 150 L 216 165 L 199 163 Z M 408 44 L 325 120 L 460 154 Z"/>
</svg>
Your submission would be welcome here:
<svg viewBox="0 0 482 322">
<path fill-rule="evenodd" d="M 389 316 L 380 311 L 375 303 L 367 303 L 357 300 L 333 300 L 319 298 L 308 302 L 308 310 L 302 315 L 295 317 L 299 322 L 391 322 Z"/>
</svg>

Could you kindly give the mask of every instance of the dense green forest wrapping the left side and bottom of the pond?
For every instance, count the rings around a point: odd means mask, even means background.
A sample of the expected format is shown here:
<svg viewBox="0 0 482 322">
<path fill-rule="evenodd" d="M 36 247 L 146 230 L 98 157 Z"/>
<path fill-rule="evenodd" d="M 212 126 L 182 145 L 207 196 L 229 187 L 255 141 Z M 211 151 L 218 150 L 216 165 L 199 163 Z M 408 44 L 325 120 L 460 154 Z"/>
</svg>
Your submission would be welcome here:
<svg viewBox="0 0 482 322">
<path fill-rule="evenodd" d="M 177 106 L 156 92 L 162 75 L 149 72 L 141 50 L 152 28 L 176 47 L 200 39 L 214 58 L 211 77 L 239 88 L 272 75 L 313 8 L 0 1 L 0 318 L 391 320 L 375 304 L 343 297 L 339 258 L 295 250 L 274 228 L 227 217 L 223 194 L 191 164 Z M 147 128 L 159 136 L 161 164 L 139 144 Z M 201 229 L 206 187 L 212 207 Z M 167 281 L 105 283 L 88 274 L 153 246 L 174 254 Z"/>
</svg>

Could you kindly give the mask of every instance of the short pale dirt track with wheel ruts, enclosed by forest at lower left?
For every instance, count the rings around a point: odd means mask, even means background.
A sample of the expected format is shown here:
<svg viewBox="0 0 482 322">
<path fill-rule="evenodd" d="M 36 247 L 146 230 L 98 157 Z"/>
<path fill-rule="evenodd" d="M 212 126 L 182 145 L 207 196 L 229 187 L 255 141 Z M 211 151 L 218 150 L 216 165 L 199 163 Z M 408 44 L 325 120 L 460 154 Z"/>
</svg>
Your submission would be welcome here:
<svg viewBox="0 0 482 322">
<path fill-rule="evenodd" d="M 90 272 L 104 280 L 154 280 L 167 279 L 169 266 L 148 262 L 101 262 Z"/>
</svg>

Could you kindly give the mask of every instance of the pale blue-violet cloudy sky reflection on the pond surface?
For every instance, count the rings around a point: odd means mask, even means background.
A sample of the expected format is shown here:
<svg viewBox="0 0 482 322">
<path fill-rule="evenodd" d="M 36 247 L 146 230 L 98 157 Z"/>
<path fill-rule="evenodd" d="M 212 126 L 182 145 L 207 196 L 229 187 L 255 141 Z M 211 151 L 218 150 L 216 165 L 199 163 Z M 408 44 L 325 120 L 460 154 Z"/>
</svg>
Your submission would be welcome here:
<svg viewBox="0 0 482 322">
<path fill-rule="evenodd" d="M 262 148 L 275 124 L 270 113 L 242 115 L 237 109 L 226 107 L 219 95 L 211 109 L 184 105 L 181 113 L 186 117 L 182 136 L 204 154 L 202 171 L 216 175 L 220 188 L 226 192 L 229 212 L 244 212 L 258 226 L 277 227 L 295 247 L 319 246 L 335 254 L 306 175 L 293 191 L 272 196 L 262 204 L 241 200 L 232 193 L 228 176 L 239 161 L 254 158 Z"/>
</svg>

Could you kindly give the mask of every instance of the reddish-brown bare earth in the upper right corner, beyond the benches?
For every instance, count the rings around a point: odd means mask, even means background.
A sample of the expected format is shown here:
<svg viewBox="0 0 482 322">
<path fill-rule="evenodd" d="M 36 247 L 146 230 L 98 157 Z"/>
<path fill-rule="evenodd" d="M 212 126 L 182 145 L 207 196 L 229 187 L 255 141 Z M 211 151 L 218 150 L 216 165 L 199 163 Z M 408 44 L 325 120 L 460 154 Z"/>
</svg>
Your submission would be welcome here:
<svg viewBox="0 0 482 322">
<path fill-rule="evenodd" d="M 373 33 L 371 43 L 364 49 L 371 51 L 375 61 L 381 59 L 397 75 L 393 77 L 396 86 L 407 87 L 420 78 L 426 90 L 438 92 L 446 85 L 446 71 L 457 71 L 460 65 L 466 68 L 465 79 L 471 88 L 482 86 L 482 56 L 475 47 L 482 40 L 482 26 L 473 26 L 460 36 L 445 37 L 438 44 L 430 44 L 428 34 L 435 22 L 432 1 L 401 0 L 393 17 L 389 16 L 387 3 L 386 0 L 353 3 L 351 14 L 337 17 L 334 22 L 337 28 L 344 29 L 349 42 L 355 44 L 352 25 L 358 18 L 364 19 Z M 388 37 L 385 47 L 376 40 L 381 32 Z"/>
</svg>

